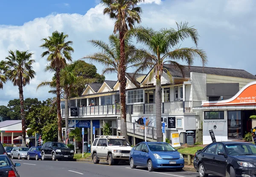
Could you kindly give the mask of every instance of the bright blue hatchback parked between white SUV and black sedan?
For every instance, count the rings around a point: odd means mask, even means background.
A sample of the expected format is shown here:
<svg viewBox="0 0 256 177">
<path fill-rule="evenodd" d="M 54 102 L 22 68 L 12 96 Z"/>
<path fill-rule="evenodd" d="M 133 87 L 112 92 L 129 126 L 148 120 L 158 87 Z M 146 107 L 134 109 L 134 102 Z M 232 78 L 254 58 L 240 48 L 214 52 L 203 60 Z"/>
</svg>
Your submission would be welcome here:
<svg viewBox="0 0 256 177">
<path fill-rule="evenodd" d="M 184 158 L 175 148 L 166 142 L 140 142 L 130 152 L 131 168 L 136 166 L 148 167 L 148 171 L 155 168 L 176 169 L 184 167 Z"/>
</svg>

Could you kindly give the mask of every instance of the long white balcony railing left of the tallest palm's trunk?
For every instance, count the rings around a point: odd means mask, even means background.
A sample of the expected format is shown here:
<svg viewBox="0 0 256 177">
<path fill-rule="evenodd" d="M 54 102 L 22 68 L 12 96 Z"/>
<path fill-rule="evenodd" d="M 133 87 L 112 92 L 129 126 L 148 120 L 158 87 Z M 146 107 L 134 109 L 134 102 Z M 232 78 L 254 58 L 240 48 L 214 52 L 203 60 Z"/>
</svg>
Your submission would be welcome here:
<svg viewBox="0 0 256 177">
<path fill-rule="evenodd" d="M 99 105 L 87 107 L 73 107 L 78 112 L 77 116 L 116 115 L 120 114 L 120 105 Z M 71 116 L 69 108 L 69 116 Z M 61 116 L 65 116 L 65 109 L 61 109 Z M 73 116 L 73 115 L 72 115 Z M 71 116 L 71 117 L 72 117 Z"/>
</svg>

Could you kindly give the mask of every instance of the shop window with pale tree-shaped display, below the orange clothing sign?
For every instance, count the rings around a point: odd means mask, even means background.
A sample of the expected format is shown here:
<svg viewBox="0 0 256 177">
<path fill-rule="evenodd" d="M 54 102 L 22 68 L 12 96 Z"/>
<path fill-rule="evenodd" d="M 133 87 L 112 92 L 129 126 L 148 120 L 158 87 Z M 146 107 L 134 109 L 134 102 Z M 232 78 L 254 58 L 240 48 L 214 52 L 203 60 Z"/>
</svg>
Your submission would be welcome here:
<svg viewBox="0 0 256 177">
<path fill-rule="evenodd" d="M 241 111 L 227 111 L 227 137 L 241 139 Z"/>
</svg>

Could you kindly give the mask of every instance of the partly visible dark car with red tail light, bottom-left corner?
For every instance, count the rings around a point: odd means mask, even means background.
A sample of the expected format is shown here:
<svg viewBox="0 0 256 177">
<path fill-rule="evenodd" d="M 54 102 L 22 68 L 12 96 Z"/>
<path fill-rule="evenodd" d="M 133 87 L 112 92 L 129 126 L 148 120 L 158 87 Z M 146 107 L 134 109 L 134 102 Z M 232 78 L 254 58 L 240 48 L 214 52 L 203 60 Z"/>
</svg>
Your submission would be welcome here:
<svg viewBox="0 0 256 177">
<path fill-rule="evenodd" d="M 15 167 L 20 163 L 13 164 L 12 160 L 6 155 L 0 155 L 0 174 L 1 177 L 20 177 Z"/>
</svg>

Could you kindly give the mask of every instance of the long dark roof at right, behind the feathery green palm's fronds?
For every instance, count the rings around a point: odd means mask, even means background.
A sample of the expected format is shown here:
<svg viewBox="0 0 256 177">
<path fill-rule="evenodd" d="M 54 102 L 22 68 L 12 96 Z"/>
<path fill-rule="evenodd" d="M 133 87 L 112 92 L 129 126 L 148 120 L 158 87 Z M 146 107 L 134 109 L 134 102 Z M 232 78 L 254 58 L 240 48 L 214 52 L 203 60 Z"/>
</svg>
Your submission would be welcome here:
<svg viewBox="0 0 256 177">
<path fill-rule="evenodd" d="M 164 64 L 164 67 L 169 70 L 173 77 L 183 78 L 181 71 L 175 68 L 171 64 Z M 197 67 L 197 66 L 184 66 L 183 65 L 183 73 L 185 78 L 190 78 L 190 73 L 204 73 L 204 74 L 212 74 L 212 75 L 223 75 L 229 77 L 236 78 L 247 78 L 247 79 L 255 79 L 256 76 L 248 73 L 245 70 L 239 69 L 230 69 L 230 68 L 218 68 L 218 67 Z"/>
</svg>

